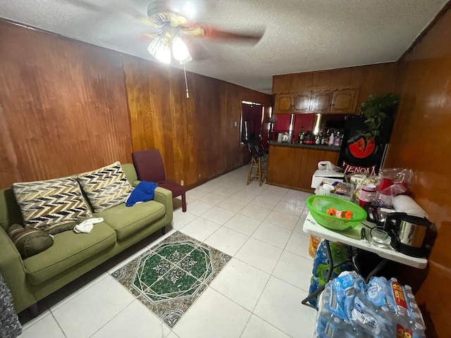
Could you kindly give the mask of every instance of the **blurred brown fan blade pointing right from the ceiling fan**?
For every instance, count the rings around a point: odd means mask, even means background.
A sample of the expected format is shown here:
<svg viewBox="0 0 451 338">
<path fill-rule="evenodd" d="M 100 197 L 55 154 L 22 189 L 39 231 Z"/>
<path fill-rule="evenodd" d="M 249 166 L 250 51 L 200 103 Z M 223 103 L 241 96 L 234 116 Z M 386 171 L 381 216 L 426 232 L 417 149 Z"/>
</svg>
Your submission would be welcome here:
<svg viewBox="0 0 451 338">
<path fill-rule="evenodd" d="M 237 40 L 242 42 L 249 42 L 251 44 L 257 44 L 264 36 L 266 30 L 262 29 L 259 32 L 228 32 L 226 30 L 219 30 L 211 25 L 193 24 L 185 27 L 186 30 L 182 31 L 183 34 L 191 35 L 189 32 L 196 32 L 192 35 L 200 35 L 198 32 L 204 31 L 204 37 L 207 39 L 221 39 L 221 40 Z"/>
</svg>

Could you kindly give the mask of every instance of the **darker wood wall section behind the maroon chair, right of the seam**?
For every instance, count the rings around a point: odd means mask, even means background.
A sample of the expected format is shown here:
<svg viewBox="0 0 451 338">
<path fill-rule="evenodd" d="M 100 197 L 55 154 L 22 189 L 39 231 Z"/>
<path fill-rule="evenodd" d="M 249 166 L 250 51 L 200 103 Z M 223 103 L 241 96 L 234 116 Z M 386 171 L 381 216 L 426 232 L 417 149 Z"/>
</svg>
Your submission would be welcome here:
<svg viewBox="0 0 451 338">
<path fill-rule="evenodd" d="M 123 60 L 133 149 L 158 148 L 168 180 L 190 186 L 249 161 L 240 146 L 241 101 L 271 106 L 270 95 L 187 73 L 187 99 L 182 70 Z"/>
</svg>

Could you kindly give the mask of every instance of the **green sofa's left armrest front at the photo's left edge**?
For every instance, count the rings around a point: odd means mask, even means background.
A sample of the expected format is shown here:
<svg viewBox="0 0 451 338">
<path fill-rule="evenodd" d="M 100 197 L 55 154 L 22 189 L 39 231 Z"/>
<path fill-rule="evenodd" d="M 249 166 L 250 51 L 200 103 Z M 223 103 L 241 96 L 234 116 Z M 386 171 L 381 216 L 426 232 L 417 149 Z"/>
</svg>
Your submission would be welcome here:
<svg viewBox="0 0 451 338">
<path fill-rule="evenodd" d="M 26 271 L 22 257 L 3 227 L 0 227 L 0 273 L 11 290 L 16 312 L 36 303 L 35 296 L 25 280 Z"/>
</svg>

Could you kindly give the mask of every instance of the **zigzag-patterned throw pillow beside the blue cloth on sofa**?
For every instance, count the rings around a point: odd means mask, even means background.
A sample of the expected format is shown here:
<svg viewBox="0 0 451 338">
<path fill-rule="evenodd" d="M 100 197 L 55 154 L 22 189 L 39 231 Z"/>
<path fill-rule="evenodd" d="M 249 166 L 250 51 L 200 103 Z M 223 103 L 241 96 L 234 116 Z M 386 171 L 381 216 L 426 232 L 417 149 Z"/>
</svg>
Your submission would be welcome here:
<svg viewBox="0 0 451 338">
<path fill-rule="evenodd" d="M 77 179 L 96 213 L 125 202 L 132 190 L 119 162 L 80 174 Z"/>
</svg>

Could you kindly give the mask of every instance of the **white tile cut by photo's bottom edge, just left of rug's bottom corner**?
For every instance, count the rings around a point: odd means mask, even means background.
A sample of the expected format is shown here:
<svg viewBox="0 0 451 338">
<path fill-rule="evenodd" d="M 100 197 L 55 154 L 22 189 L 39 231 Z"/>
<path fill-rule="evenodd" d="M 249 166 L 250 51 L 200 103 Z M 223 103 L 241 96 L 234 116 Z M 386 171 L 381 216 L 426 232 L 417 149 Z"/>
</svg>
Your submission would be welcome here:
<svg viewBox="0 0 451 338">
<path fill-rule="evenodd" d="M 165 337 L 169 332 L 169 327 L 140 301 L 135 300 L 101 327 L 92 338 Z"/>
</svg>

